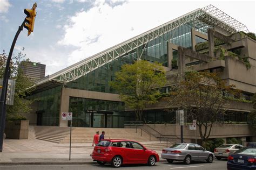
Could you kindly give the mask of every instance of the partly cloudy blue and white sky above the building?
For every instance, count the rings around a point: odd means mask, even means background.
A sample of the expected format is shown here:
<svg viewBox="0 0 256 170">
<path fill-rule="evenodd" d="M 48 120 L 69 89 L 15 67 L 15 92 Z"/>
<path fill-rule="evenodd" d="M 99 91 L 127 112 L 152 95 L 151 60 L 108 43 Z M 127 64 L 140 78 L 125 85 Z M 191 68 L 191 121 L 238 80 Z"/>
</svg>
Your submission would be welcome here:
<svg viewBox="0 0 256 170">
<path fill-rule="evenodd" d="M 8 54 L 18 26 L 35 1 L 0 0 L 0 53 Z M 40 0 L 33 32 L 23 29 L 14 53 L 53 74 L 187 12 L 214 5 L 256 33 L 255 1 Z"/>
</svg>

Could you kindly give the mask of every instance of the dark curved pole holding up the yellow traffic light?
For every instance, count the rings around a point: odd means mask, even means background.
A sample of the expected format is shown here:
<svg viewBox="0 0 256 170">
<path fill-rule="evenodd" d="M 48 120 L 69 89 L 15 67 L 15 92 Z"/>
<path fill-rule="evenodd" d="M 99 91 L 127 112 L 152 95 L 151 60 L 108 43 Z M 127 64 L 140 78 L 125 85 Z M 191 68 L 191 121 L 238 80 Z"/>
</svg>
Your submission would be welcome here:
<svg viewBox="0 0 256 170">
<path fill-rule="evenodd" d="M 11 56 L 12 56 L 12 52 L 14 51 L 14 46 L 18 39 L 19 33 L 21 33 L 21 31 L 23 30 L 25 23 L 26 23 L 26 21 L 24 20 L 22 25 L 19 26 L 19 29 L 16 32 L 14 40 L 12 41 L 11 49 L 10 49 L 8 59 L 6 62 L 6 66 L 5 66 L 3 89 L 2 89 L 1 100 L 0 100 L 0 114 L 1 114 L 0 115 L 1 116 L 1 120 L 0 120 L 1 121 L 0 122 L 0 152 L 3 152 L 3 137 L 4 137 L 4 128 L 5 128 L 5 118 L 6 118 L 6 105 L 5 105 L 6 88 L 7 88 L 7 83 L 8 83 L 8 79 L 9 79 L 9 67 L 10 67 L 10 62 L 11 62 Z"/>
</svg>

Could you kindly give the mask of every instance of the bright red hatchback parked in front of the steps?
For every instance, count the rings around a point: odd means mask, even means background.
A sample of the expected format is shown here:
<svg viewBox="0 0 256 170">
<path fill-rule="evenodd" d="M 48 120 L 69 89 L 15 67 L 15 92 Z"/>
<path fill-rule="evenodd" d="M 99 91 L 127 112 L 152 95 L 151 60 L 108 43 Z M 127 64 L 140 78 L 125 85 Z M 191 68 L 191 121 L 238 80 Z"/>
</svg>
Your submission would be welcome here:
<svg viewBox="0 0 256 170">
<path fill-rule="evenodd" d="M 91 156 L 100 165 L 109 162 L 116 168 L 123 164 L 148 164 L 149 166 L 154 166 L 159 161 L 157 152 L 147 149 L 137 141 L 120 139 L 100 141 L 95 146 Z"/>
</svg>

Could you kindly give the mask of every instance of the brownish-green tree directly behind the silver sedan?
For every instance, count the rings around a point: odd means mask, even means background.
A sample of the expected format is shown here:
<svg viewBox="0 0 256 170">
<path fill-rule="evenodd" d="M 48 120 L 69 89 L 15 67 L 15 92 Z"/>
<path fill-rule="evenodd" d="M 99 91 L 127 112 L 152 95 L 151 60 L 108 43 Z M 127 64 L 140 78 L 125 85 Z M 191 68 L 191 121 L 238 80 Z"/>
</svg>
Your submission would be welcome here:
<svg viewBox="0 0 256 170">
<path fill-rule="evenodd" d="M 186 110 L 189 120 L 197 119 L 200 137 L 205 141 L 217 117 L 225 112 L 227 100 L 223 94 L 234 94 L 237 90 L 233 88 L 226 86 L 216 73 L 186 72 L 185 80 L 173 87 L 169 105 Z"/>
</svg>

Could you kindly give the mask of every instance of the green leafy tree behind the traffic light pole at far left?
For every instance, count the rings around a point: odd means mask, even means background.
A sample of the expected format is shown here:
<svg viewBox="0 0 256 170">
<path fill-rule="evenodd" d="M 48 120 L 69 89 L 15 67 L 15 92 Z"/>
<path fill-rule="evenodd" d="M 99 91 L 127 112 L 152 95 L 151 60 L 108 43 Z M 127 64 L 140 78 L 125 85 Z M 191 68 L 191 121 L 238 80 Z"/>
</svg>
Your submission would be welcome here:
<svg viewBox="0 0 256 170">
<path fill-rule="evenodd" d="M 21 52 L 17 55 L 12 56 L 13 64 L 11 67 L 11 75 L 10 79 L 15 79 L 15 95 L 14 95 L 14 105 L 7 105 L 6 108 L 6 119 L 25 119 L 21 116 L 21 113 L 26 113 L 31 110 L 30 104 L 32 101 L 26 100 L 26 95 L 32 92 L 33 81 L 26 77 L 23 74 L 23 70 L 21 69 L 21 65 L 25 63 L 22 61 L 29 61 L 29 59 L 25 59 L 25 54 L 23 54 L 24 48 Z M 5 52 L 3 51 L 0 54 L 0 78 L 3 78 L 6 60 L 8 56 L 6 56 Z"/>
</svg>

